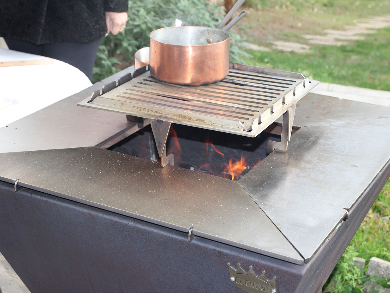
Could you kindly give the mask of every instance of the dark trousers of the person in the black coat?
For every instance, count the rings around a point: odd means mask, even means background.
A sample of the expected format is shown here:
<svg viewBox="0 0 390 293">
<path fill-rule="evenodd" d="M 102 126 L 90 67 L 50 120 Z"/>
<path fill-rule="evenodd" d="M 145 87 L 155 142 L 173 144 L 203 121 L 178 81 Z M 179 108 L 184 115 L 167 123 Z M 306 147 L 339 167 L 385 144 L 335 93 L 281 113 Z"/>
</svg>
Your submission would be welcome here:
<svg viewBox="0 0 390 293">
<path fill-rule="evenodd" d="M 46 56 L 71 64 L 91 80 L 100 39 L 90 43 L 64 42 L 46 45 L 34 45 L 12 39 L 5 39 L 5 42 L 11 50 Z"/>
</svg>

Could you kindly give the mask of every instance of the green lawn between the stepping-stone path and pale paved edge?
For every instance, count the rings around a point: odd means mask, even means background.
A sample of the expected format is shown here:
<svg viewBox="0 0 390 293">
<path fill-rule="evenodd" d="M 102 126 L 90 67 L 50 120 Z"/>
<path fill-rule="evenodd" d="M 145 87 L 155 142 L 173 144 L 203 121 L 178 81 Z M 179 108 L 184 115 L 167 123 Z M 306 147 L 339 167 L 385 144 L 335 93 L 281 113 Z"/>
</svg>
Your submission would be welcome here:
<svg viewBox="0 0 390 293">
<path fill-rule="evenodd" d="M 246 64 L 300 72 L 305 77 L 390 91 L 390 28 L 342 46 L 310 46 L 309 54 L 248 51 Z"/>
</svg>

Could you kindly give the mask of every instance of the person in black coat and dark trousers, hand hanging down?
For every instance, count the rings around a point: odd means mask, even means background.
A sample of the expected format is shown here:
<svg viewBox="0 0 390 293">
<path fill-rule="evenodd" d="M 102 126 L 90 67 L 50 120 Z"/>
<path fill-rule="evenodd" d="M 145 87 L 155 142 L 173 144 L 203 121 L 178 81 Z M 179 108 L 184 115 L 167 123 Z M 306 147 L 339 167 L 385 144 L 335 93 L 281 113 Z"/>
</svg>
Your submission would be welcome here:
<svg viewBox="0 0 390 293">
<path fill-rule="evenodd" d="M 0 0 L 0 36 L 11 50 L 64 61 L 92 79 L 100 38 L 127 22 L 128 0 Z"/>
</svg>

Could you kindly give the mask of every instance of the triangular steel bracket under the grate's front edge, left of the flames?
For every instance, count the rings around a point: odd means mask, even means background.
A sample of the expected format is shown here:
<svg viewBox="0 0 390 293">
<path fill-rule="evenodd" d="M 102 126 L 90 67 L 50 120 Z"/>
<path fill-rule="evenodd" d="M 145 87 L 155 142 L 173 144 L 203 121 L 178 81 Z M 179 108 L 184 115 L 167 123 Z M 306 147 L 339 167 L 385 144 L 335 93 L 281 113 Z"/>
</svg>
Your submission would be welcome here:
<svg viewBox="0 0 390 293">
<path fill-rule="evenodd" d="M 161 159 L 161 167 L 165 167 L 168 164 L 174 164 L 173 154 L 167 155 L 166 145 L 168 132 L 172 121 L 166 121 L 162 119 L 150 119 L 150 125 L 152 127 L 152 132 L 154 136 L 154 141 L 156 142 L 156 147 L 158 155 Z"/>
</svg>

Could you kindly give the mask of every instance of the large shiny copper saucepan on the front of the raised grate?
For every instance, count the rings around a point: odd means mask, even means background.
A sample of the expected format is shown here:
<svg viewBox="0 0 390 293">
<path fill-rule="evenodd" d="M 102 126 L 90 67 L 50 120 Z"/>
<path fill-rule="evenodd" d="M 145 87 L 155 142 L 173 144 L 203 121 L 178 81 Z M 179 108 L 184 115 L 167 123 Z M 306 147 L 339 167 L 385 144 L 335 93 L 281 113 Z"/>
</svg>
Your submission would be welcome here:
<svg viewBox="0 0 390 293">
<path fill-rule="evenodd" d="M 223 79 L 229 73 L 230 37 L 226 30 L 246 13 L 242 11 L 224 29 L 184 26 L 152 31 L 151 75 L 164 82 L 191 86 Z"/>
</svg>

